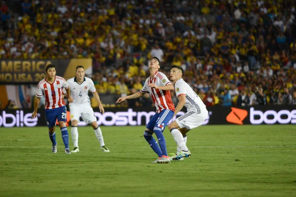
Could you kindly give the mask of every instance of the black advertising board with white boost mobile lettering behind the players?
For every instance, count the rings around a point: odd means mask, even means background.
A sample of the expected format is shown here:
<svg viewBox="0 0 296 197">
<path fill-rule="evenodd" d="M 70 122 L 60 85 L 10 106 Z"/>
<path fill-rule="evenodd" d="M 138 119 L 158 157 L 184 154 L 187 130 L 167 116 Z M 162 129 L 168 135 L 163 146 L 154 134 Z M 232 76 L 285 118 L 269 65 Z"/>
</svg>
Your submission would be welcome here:
<svg viewBox="0 0 296 197">
<path fill-rule="evenodd" d="M 254 106 L 254 107 L 207 107 L 209 115 L 203 125 L 273 125 L 296 124 L 296 105 Z M 185 108 L 183 108 L 185 110 Z M 36 119 L 31 119 L 33 110 L 0 110 L 0 127 L 46 126 L 44 109 L 38 110 Z M 101 114 L 94 108 L 99 126 L 140 126 L 147 125 L 155 114 L 155 108 L 105 108 Z M 180 111 L 179 116 L 185 114 Z M 71 125 L 70 112 L 67 111 L 67 126 Z M 86 126 L 82 119 L 78 126 Z"/>
</svg>

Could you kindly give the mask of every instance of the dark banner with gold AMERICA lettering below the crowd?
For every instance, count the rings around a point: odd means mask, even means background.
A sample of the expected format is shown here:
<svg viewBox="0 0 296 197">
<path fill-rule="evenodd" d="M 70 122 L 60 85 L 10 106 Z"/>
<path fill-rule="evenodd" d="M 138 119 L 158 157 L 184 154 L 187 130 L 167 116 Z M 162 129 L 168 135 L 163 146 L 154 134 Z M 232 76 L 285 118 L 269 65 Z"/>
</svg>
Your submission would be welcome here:
<svg viewBox="0 0 296 197">
<path fill-rule="evenodd" d="M 69 79 L 76 66 L 91 68 L 92 59 L 0 60 L 0 84 L 37 84 L 46 77 L 45 67 L 49 64 L 56 66 L 58 76 Z"/>
</svg>

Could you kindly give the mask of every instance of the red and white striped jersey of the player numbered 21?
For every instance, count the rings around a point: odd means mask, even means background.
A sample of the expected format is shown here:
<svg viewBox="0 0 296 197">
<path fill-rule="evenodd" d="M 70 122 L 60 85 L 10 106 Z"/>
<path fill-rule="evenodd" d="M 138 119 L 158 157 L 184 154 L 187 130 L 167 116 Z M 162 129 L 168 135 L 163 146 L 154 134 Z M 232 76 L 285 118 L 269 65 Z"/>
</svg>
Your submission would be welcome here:
<svg viewBox="0 0 296 197">
<path fill-rule="evenodd" d="M 45 109 L 65 106 L 63 87 L 68 88 L 68 83 L 63 77 L 55 76 L 53 83 L 48 83 L 45 78 L 39 82 L 36 96 L 38 98 L 44 96 Z"/>
</svg>

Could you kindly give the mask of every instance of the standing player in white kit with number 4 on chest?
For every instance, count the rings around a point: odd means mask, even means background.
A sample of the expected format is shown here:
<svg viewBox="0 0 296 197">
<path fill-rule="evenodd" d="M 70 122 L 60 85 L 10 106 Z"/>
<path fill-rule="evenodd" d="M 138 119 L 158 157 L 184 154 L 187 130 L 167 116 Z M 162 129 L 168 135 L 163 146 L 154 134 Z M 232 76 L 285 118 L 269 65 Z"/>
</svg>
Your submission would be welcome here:
<svg viewBox="0 0 296 197">
<path fill-rule="evenodd" d="M 94 129 L 95 134 L 101 144 L 101 150 L 104 152 L 110 152 L 104 143 L 101 128 L 98 126 L 97 118 L 94 115 L 94 111 L 90 105 L 90 99 L 88 97 L 88 91 L 90 91 L 96 101 L 99 103 L 100 112 L 104 113 L 104 107 L 102 106 L 94 82 L 90 78 L 84 77 L 83 66 L 76 67 L 75 75 L 75 77 L 67 81 L 71 90 L 71 96 L 74 99 L 70 104 L 70 118 L 72 125 L 71 135 L 74 144 L 74 150 L 71 152 L 79 152 L 77 126 L 80 116 L 86 124 L 90 124 Z"/>
</svg>

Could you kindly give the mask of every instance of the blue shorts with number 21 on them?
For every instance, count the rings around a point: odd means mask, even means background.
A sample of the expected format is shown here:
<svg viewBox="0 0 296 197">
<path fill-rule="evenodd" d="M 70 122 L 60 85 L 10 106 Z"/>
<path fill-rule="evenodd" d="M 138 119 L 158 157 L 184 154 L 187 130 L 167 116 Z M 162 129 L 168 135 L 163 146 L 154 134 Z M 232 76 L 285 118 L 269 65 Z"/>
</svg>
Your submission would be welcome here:
<svg viewBox="0 0 296 197">
<path fill-rule="evenodd" d="M 54 108 L 54 109 L 45 109 L 45 118 L 48 128 L 52 128 L 56 125 L 58 121 L 67 122 L 67 110 L 66 106 Z"/>
</svg>

